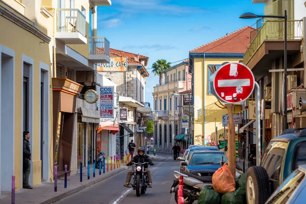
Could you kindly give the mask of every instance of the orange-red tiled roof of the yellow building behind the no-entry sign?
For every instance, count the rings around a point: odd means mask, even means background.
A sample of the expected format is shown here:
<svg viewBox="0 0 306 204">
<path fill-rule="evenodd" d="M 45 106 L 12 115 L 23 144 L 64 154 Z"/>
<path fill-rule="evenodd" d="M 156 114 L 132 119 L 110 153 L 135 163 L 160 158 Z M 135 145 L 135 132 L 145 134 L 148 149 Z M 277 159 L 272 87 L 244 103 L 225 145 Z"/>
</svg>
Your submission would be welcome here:
<svg viewBox="0 0 306 204">
<path fill-rule="evenodd" d="M 199 46 L 190 53 L 245 53 L 250 44 L 250 32 L 252 27 L 246 26 L 238 31 Z"/>
</svg>

